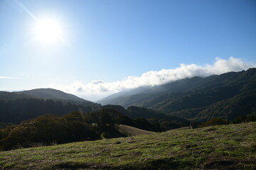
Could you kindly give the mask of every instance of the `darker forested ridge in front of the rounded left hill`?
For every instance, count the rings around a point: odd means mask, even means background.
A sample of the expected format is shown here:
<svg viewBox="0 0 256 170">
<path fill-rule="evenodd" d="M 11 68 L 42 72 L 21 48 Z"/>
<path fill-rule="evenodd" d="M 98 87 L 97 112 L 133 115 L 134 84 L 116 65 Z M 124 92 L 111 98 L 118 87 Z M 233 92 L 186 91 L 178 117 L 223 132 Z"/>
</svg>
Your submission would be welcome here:
<svg viewBox="0 0 256 170">
<path fill-rule="evenodd" d="M 38 98 L 0 100 L 1 123 L 21 123 L 23 120 L 36 118 L 47 113 L 66 115 L 73 111 L 92 111 L 92 108 L 90 106 L 62 103 L 60 101 L 45 101 Z"/>
</svg>

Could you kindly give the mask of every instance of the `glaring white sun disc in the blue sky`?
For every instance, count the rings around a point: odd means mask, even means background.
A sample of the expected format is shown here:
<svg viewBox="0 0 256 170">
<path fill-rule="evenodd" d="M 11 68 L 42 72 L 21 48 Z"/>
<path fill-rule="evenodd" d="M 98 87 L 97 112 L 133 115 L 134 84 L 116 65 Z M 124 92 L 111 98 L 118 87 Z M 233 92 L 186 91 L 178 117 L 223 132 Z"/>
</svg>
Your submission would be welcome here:
<svg viewBox="0 0 256 170">
<path fill-rule="evenodd" d="M 36 24 L 33 29 L 35 32 L 35 39 L 47 44 L 59 41 L 65 41 L 63 39 L 63 27 L 55 18 L 44 18 Z"/>
</svg>

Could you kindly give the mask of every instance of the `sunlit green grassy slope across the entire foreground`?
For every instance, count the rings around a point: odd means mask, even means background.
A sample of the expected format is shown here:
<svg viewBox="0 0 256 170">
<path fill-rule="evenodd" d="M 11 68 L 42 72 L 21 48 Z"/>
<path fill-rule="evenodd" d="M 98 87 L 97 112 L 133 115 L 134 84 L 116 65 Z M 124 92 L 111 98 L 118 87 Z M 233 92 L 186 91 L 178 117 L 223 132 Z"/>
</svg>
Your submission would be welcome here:
<svg viewBox="0 0 256 170">
<path fill-rule="evenodd" d="M 0 152 L 4 169 L 256 169 L 256 123 Z"/>
</svg>

